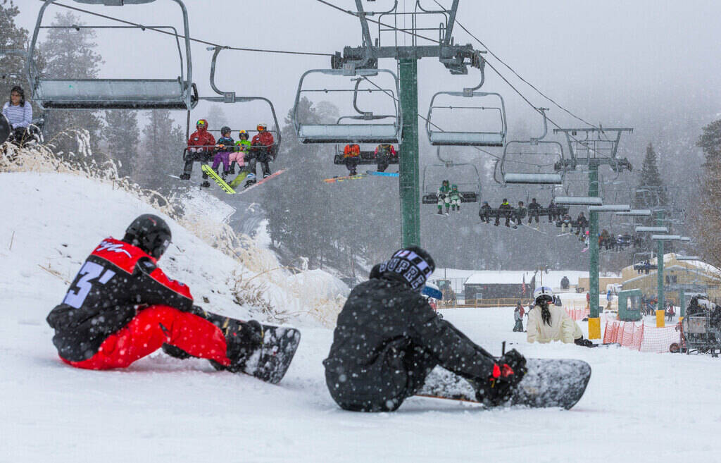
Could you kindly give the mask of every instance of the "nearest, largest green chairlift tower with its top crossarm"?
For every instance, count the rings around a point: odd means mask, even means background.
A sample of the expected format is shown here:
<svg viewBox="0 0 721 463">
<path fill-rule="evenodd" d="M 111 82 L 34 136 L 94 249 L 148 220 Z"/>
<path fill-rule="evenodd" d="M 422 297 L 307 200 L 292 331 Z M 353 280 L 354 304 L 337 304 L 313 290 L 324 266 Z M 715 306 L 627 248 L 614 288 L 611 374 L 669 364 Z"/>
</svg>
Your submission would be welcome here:
<svg viewBox="0 0 721 463">
<path fill-rule="evenodd" d="M 399 69 L 399 100 L 402 116 L 402 131 L 399 140 L 399 190 L 402 216 L 402 246 L 420 244 L 420 169 L 418 156 L 418 68 L 417 61 L 421 58 L 438 58 L 451 74 L 468 74 L 468 66 L 482 70 L 485 61 L 480 52 L 472 45 L 455 45 L 453 30 L 459 0 L 453 0 L 448 9 L 423 9 L 420 1 L 415 1 L 412 12 L 398 12 L 398 2 L 386 12 L 366 12 L 363 0 L 355 0 L 357 11 L 355 16 L 361 21 L 363 45 L 345 47 L 342 56 L 336 53 L 332 57 L 332 68 L 342 69 L 345 74 L 353 74 L 361 69 L 378 69 L 379 58 L 393 58 L 398 62 Z M 418 19 L 431 16 L 443 17 L 441 25 L 435 28 L 423 28 Z M 377 17 L 379 37 L 373 43 L 368 17 Z M 389 23 L 392 22 L 392 27 Z M 410 24 L 404 27 L 403 24 Z M 394 43 L 381 43 L 382 32 L 394 32 Z M 438 40 L 433 45 L 418 45 L 419 36 L 431 32 L 438 33 Z M 412 45 L 402 45 L 398 38 L 407 35 Z M 435 40 L 434 40 L 435 42 Z M 480 92 L 468 89 L 467 96 L 480 96 Z M 465 92 L 465 91 L 464 91 Z M 463 134 L 461 134 L 463 135 Z M 505 136 L 505 133 L 504 133 Z M 456 142 L 454 144 L 459 144 Z M 473 141 L 460 142 L 473 144 Z"/>
</svg>

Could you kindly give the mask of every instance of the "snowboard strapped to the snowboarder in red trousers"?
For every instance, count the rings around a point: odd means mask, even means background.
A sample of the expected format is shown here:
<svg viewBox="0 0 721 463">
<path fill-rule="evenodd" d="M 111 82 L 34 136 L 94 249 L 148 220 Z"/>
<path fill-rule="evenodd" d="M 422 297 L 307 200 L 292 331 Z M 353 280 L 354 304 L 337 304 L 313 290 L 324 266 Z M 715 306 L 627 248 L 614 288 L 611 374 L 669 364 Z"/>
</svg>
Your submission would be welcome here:
<svg viewBox="0 0 721 463">
<path fill-rule="evenodd" d="M 244 325 L 241 320 L 205 311 L 202 311 L 200 316 L 208 319 L 224 332 L 233 324 Z M 263 343 L 249 356 L 241 371 L 262 381 L 278 384 L 291 366 L 293 356 L 296 355 L 298 344 L 301 342 L 301 332 L 293 327 L 278 325 L 262 324 L 262 327 Z M 242 327 L 240 329 L 242 330 Z M 224 369 L 217 363 L 211 362 L 211 364 L 216 369 Z"/>
</svg>

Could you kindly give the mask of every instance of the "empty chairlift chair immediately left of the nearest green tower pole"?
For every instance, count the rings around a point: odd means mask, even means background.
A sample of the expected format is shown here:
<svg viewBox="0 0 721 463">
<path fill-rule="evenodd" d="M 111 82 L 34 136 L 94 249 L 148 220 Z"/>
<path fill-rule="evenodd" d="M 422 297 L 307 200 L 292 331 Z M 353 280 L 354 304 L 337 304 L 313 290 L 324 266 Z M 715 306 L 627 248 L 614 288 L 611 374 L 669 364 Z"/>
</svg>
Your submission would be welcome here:
<svg viewBox="0 0 721 463">
<path fill-rule="evenodd" d="M 382 87 L 361 90 L 358 88 L 361 79 L 368 81 L 370 76 L 378 76 L 380 73 L 392 76 L 394 80 L 393 89 Z M 306 89 L 304 81 L 311 74 L 324 74 L 327 76 L 355 78 L 353 89 Z M 372 84 L 372 82 L 371 82 Z M 358 115 L 344 115 L 336 123 L 307 123 L 298 119 L 298 105 L 301 97 L 309 92 L 353 92 L 353 105 Z M 358 110 L 358 92 L 381 92 L 393 100 L 394 114 L 376 115 L 373 112 Z M 295 105 L 293 105 L 293 126 L 296 128 L 298 139 L 304 143 L 326 143 L 326 144 L 398 144 L 401 140 L 401 129 L 403 126 L 402 115 L 399 105 L 400 87 L 398 77 L 388 69 L 355 69 L 353 66 L 344 69 L 311 69 L 304 72 L 298 82 Z M 354 123 L 342 123 L 343 120 L 358 121 Z M 362 121 L 366 121 L 363 123 Z M 378 123 L 378 121 L 383 121 Z"/>
</svg>

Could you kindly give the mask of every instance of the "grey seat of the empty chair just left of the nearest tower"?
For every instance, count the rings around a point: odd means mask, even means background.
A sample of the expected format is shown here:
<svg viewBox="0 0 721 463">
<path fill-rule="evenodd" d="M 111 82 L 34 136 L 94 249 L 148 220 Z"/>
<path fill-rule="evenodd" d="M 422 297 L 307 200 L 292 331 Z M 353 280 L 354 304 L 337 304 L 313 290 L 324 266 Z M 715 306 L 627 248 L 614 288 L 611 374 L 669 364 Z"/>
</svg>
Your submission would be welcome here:
<svg viewBox="0 0 721 463">
<path fill-rule="evenodd" d="M 399 131 L 394 124 L 300 124 L 298 138 L 303 143 L 398 143 Z"/>
</svg>

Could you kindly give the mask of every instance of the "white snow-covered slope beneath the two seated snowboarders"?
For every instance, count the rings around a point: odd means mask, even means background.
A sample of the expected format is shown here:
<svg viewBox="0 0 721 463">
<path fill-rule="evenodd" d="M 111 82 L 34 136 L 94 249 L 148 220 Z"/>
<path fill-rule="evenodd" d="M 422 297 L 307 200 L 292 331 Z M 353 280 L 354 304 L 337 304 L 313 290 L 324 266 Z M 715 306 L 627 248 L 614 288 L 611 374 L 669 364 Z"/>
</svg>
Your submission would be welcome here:
<svg viewBox="0 0 721 463">
<path fill-rule="evenodd" d="M 58 361 L 45 316 L 97 242 L 120 237 L 150 208 L 68 175 L 0 174 L 0 198 L 0 462 L 721 461 L 721 360 L 528 345 L 511 331 L 511 308 L 443 315 L 494 353 L 506 340 L 526 356 L 588 361 L 593 375 L 572 410 L 488 411 L 423 398 L 396 413 L 340 410 L 321 363 L 332 330 L 293 291 L 298 283 L 328 283 L 328 291 L 332 279 L 317 272 L 295 283 L 264 280 L 274 303 L 297 312 L 291 323 L 303 335 L 277 386 L 160 352 L 123 371 L 72 369 Z M 209 309 L 259 316 L 229 294 L 229 273 L 248 278 L 249 270 L 171 226 L 167 273 Z"/>
</svg>

